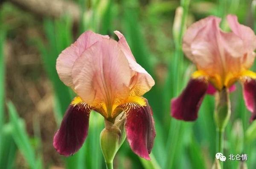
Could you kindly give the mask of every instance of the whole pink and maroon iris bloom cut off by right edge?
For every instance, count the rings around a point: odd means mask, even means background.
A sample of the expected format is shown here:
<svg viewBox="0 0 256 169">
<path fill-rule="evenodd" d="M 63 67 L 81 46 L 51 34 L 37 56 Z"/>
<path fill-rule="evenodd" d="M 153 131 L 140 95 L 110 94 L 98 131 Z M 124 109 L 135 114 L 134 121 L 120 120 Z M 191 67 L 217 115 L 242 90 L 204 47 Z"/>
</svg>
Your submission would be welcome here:
<svg viewBox="0 0 256 169">
<path fill-rule="evenodd" d="M 251 120 L 256 118 L 256 73 L 249 70 L 255 58 L 256 36 L 234 15 L 227 16 L 231 32 L 222 31 L 220 22 L 220 18 L 210 16 L 192 24 L 184 34 L 183 51 L 198 70 L 180 96 L 172 99 L 174 118 L 194 121 L 206 93 L 223 88 L 233 91 L 237 81 L 243 85 Z"/>
</svg>

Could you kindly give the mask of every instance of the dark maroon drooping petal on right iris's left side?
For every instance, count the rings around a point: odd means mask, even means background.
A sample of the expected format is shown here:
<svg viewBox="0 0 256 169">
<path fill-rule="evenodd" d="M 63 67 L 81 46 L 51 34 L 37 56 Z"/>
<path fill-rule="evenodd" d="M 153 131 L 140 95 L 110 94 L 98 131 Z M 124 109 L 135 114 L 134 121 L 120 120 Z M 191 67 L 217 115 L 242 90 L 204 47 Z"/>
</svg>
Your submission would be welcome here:
<svg viewBox="0 0 256 169">
<path fill-rule="evenodd" d="M 184 121 L 194 121 L 198 117 L 208 82 L 205 79 L 190 79 L 181 95 L 171 101 L 171 115 Z"/>
</svg>

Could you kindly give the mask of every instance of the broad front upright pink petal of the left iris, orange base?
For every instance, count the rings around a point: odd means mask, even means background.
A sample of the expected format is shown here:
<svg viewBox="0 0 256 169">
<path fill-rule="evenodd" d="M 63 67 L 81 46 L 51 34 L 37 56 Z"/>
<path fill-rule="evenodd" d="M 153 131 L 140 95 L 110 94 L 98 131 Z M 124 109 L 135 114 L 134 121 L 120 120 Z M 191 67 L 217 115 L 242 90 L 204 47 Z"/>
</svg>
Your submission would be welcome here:
<svg viewBox="0 0 256 169">
<path fill-rule="evenodd" d="M 131 71 L 118 43 L 102 39 L 76 59 L 72 79 L 84 102 L 91 106 L 104 103 L 112 109 L 113 104 L 129 96 Z"/>
</svg>

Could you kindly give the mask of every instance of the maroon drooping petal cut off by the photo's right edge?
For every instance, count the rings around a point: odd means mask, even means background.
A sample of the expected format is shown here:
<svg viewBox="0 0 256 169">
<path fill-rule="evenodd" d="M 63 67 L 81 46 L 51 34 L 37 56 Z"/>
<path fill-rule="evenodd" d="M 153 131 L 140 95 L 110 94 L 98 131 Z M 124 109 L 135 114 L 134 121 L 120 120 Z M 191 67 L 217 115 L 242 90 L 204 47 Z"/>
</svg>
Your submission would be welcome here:
<svg viewBox="0 0 256 169">
<path fill-rule="evenodd" d="M 256 119 L 256 81 L 247 79 L 244 82 L 244 101 L 247 109 L 252 112 L 250 121 Z"/>
</svg>

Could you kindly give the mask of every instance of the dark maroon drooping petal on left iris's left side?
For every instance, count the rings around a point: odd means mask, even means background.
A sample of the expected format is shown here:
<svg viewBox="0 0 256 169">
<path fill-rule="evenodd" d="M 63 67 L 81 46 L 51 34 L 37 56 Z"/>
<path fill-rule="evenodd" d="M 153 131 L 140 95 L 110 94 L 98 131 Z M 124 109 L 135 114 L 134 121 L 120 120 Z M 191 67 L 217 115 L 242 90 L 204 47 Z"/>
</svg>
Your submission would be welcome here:
<svg viewBox="0 0 256 169">
<path fill-rule="evenodd" d="M 58 153 L 69 156 L 81 148 L 88 133 L 90 110 L 85 103 L 67 108 L 61 127 L 53 138 Z"/>
</svg>

